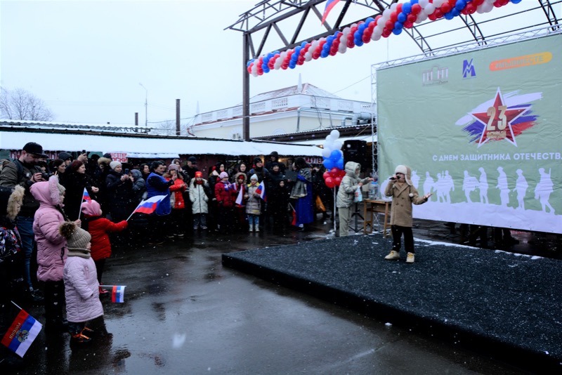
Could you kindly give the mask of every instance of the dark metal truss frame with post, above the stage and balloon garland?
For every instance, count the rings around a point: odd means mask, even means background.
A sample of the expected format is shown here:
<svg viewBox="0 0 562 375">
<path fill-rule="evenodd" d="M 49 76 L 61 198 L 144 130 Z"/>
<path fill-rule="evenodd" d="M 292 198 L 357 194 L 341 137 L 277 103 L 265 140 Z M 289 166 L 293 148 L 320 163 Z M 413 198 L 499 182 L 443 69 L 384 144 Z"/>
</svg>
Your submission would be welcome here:
<svg viewBox="0 0 562 375">
<path fill-rule="evenodd" d="M 333 26 L 329 25 L 329 23 L 325 21 L 322 24 L 325 28 L 324 32 L 312 37 L 302 37 L 301 32 L 306 20 L 311 17 L 318 18 L 320 21 L 322 20 L 323 10 L 320 11 L 322 7 L 319 9 L 319 6 L 325 3 L 325 1 L 327 0 L 263 0 L 256 4 L 254 8 L 242 13 L 233 25 L 226 27 L 226 29 L 242 32 L 243 34 L 242 48 L 244 62 L 242 74 L 244 75 L 244 79 L 242 88 L 242 133 L 244 140 L 249 140 L 249 74 L 246 70 L 246 63 L 251 58 L 259 58 L 259 56 L 263 54 L 263 49 L 266 46 L 266 43 L 273 38 L 273 35 L 279 37 L 282 41 L 282 45 L 275 49 L 277 51 L 287 51 L 301 45 L 303 41 L 318 40 L 322 37 L 332 35 L 337 30 L 344 29 L 344 27 L 351 26 L 353 23 L 365 20 L 368 17 L 374 18 L 375 16 L 381 14 L 384 10 L 390 8 L 393 3 L 398 2 L 398 0 L 343 0 L 345 2 L 344 7 Z M 476 22 L 472 15 L 461 15 L 459 16 L 459 19 L 462 20 L 464 25 L 457 29 L 447 29 L 438 34 L 429 34 L 424 33 L 424 27 L 429 25 L 429 22 L 421 22 L 419 25 L 414 25 L 411 29 L 403 29 L 403 32 L 407 33 L 410 38 L 412 38 L 422 53 L 424 53 L 427 57 L 431 57 L 436 54 L 436 50 L 459 46 L 469 42 L 476 42 L 478 45 L 485 46 L 488 44 L 488 39 L 490 38 L 493 39 L 505 34 L 524 32 L 532 27 L 549 25 L 553 31 L 559 29 L 561 27 L 562 18 L 554 12 L 554 5 L 561 4 L 562 0 L 536 1 L 536 8 L 525 11 L 536 11 L 537 9 L 542 8 L 546 20 L 540 25 L 521 27 L 519 29 L 506 29 L 499 34 L 486 35 L 481 27 L 484 22 L 497 22 L 498 20 L 502 20 L 502 18 L 518 13 L 491 18 L 483 22 Z M 372 13 L 361 17 L 359 20 L 355 20 L 344 25 L 342 22 L 344 22 L 344 18 L 348 15 L 349 7 L 352 3 L 354 5 L 365 6 L 365 8 L 372 11 Z M 283 32 L 282 25 L 280 25 L 280 23 L 283 20 L 288 20 L 289 18 L 298 18 L 299 22 L 296 27 L 292 27 L 289 32 Z M 436 22 L 443 22 L 443 20 L 438 20 Z M 450 46 L 435 47 L 430 45 L 430 41 L 433 37 L 446 34 L 447 32 L 455 32 L 464 28 L 469 30 L 471 35 L 470 40 L 459 41 L 455 44 L 451 44 Z M 259 34 L 256 33 L 262 33 L 261 39 L 258 37 Z M 256 37 L 255 39 L 257 43 L 254 43 L 254 36 Z"/>
</svg>

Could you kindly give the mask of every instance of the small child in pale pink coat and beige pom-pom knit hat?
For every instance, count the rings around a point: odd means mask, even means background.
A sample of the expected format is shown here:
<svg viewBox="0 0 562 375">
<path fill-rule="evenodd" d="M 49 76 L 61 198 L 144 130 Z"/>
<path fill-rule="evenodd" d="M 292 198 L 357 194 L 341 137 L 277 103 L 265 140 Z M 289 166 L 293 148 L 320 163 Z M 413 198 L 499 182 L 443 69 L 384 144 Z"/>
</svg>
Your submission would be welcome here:
<svg viewBox="0 0 562 375">
<path fill-rule="evenodd" d="M 94 332 L 86 322 L 103 315 L 96 265 L 90 254 L 91 235 L 71 222 L 61 224 L 59 232 L 68 248 L 63 279 L 70 343 L 89 343 Z"/>
</svg>

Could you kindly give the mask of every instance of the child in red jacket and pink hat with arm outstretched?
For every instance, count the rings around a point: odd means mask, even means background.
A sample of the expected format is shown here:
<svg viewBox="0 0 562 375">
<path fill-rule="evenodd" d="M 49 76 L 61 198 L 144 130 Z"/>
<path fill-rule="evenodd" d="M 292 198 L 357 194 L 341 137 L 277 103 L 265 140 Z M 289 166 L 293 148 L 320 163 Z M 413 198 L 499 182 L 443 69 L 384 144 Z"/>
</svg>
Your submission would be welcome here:
<svg viewBox="0 0 562 375">
<path fill-rule="evenodd" d="M 84 213 L 84 221 L 88 224 L 88 232 L 90 232 L 91 235 L 91 258 L 93 259 L 93 263 L 96 265 L 98 283 L 101 284 L 101 276 L 103 275 L 105 259 L 111 256 L 109 233 L 121 232 L 127 228 L 128 223 L 127 221 L 113 223 L 107 218 L 101 216 L 101 206 L 93 199 L 82 204 L 82 213 Z M 101 295 L 105 295 L 107 293 L 109 293 L 107 290 L 100 288 Z"/>
</svg>

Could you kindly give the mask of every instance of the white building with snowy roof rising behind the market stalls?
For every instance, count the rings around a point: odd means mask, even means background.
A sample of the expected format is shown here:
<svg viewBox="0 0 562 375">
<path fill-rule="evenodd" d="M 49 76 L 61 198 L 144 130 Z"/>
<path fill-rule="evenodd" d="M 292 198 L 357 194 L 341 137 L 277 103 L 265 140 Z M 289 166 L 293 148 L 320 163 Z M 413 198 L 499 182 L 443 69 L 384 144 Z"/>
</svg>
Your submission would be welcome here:
<svg viewBox="0 0 562 375">
<path fill-rule="evenodd" d="M 353 136 L 368 126 L 370 133 L 373 106 L 299 82 L 251 98 L 250 116 L 251 139 L 317 140 L 333 129 Z M 188 130 L 196 137 L 242 139 L 242 105 L 197 114 Z"/>
</svg>

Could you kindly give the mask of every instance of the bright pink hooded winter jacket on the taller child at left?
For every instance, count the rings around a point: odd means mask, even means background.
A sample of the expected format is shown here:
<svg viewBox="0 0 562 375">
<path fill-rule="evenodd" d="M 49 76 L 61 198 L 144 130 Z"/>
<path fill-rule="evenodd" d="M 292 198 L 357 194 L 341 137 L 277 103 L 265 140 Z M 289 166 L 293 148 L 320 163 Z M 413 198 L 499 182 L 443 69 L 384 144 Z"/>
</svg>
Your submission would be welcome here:
<svg viewBox="0 0 562 375">
<path fill-rule="evenodd" d="M 42 282 L 60 281 L 63 279 L 67 248 L 65 237 L 58 232 L 58 226 L 65 218 L 56 209 L 61 203 L 57 176 L 52 176 L 48 182 L 34 183 L 31 193 L 39 201 L 33 221 L 39 265 L 37 279 Z"/>
</svg>

